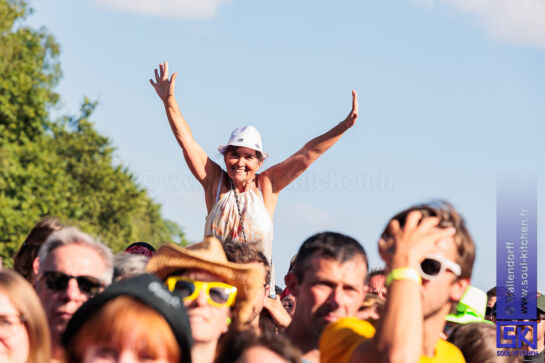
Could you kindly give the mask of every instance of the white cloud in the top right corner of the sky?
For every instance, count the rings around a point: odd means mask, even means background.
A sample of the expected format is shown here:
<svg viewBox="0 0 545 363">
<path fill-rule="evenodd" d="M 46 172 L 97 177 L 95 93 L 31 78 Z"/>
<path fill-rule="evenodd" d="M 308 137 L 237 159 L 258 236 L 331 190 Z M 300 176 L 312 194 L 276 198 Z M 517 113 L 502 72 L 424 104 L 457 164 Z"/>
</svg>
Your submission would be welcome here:
<svg viewBox="0 0 545 363">
<path fill-rule="evenodd" d="M 492 37 L 545 49 L 545 0 L 417 0 L 453 5 L 473 15 Z"/>
</svg>

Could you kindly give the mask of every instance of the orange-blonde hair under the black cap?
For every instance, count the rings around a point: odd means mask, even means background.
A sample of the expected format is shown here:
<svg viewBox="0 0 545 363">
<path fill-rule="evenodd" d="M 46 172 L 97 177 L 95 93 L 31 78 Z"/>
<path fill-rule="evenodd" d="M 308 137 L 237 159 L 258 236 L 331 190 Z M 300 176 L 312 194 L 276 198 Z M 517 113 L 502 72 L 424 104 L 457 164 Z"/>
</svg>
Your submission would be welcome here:
<svg viewBox="0 0 545 363">
<path fill-rule="evenodd" d="M 156 357 L 166 353 L 169 362 L 180 361 L 180 347 L 165 318 L 137 299 L 119 296 L 106 303 L 74 335 L 66 351 L 67 362 L 81 362 L 93 345 L 106 343 L 121 350 L 131 339 L 140 343 L 136 348 L 139 352 Z"/>
</svg>

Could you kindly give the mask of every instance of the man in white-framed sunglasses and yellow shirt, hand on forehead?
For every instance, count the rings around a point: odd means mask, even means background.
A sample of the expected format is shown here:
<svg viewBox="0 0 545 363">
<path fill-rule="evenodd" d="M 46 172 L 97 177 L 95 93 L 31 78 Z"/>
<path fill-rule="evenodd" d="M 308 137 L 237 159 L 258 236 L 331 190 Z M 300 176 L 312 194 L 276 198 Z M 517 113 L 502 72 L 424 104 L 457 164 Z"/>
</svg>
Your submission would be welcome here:
<svg viewBox="0 0 545 363">
<path fill-rule="evenodd" d="M 465 362 L 440 339 L 475 259 L 463 218 L 446 202 L 411 207 L 390 220 L 379 253 L 388 298 L 376 331 L 353 318 L 329 325 L 320 340 L 322 362 Z"/>
</svg>

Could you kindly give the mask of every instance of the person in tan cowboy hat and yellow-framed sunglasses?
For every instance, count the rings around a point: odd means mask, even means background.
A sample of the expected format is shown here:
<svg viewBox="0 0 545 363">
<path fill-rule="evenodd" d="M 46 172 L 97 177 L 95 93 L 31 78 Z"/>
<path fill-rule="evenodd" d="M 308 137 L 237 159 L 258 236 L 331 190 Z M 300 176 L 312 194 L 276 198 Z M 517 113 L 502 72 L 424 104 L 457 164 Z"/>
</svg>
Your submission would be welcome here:
<svg viewBox="0 0 545 363">
<path fill-rule="evenodd" d="M 230 326 L 245 325 L 265 281 L 260 263 L 229 262 L 214 237 L 187 248 L 163 245 L 146 270 L 183 297 L 193 336 L 191 357 L 199 363 L 214 361 L 218 340 Z"/>
</svg>

